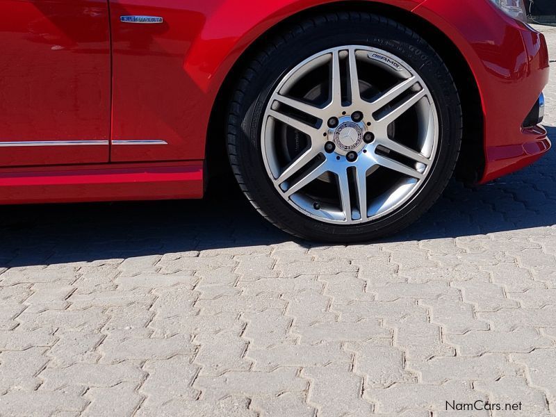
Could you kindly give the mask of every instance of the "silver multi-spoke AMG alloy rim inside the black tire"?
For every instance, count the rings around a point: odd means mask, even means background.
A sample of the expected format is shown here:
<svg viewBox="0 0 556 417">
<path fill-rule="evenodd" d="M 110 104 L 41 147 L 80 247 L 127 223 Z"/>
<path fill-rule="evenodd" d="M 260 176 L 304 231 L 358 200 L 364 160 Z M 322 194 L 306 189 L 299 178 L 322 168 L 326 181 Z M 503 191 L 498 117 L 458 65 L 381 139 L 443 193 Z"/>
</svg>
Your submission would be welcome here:
<svg viewBox="0 0 556 417">
<path fill-rule="evenodd" d="M 297 85 L 318 83 L 323 67 L 327 99 L 296 97 Z M 369 79 L 381 73 L 391 85 L 378 88 Z M 398 139 L 400 127 L 409 142 Z M 284 128 L 293 132 L 293 156 L 284 151 Z M 422 188 L 434 165 L 439 122 L 413 68 L 386 51 L 350 45 L 311 56 L 284 76 L 265 110 L 261 141 L 268 175 L 289 204 L 322 222 L 359 224 L 391 213 Z M 336 183 L 336 197 L 321 195 L 316 183 Z"/>
</svg>

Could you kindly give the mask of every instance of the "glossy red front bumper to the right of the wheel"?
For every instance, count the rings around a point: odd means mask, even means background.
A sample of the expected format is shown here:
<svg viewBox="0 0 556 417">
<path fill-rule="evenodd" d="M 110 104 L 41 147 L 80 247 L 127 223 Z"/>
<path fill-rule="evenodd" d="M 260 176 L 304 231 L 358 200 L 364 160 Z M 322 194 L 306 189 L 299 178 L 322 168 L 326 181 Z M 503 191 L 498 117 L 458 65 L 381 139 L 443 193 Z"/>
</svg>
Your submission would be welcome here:
<svg viewBox="0 0 556 417">
<path fill-rule="evenodd" d="M 414 13 L 452 40 L 475 77 L 484 121 L 479 182 L 519 170 L 546 153 L 546 130 L 525 123 L 548 83 L 544 36 L 507 17 L 490 1 L 427 0 Z"/>
</svg>

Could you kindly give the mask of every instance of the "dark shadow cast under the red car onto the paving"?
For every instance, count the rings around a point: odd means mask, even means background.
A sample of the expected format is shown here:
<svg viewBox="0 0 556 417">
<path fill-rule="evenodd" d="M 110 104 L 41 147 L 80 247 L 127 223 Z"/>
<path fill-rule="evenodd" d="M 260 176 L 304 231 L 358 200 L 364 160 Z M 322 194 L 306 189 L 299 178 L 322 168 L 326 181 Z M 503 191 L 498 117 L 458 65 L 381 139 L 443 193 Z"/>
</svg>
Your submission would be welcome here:
<svg viewBox="0 0 556 417">
<path fill-rule="evenodd" d="M 549 127 L 556 138 L 556 128 Z M 392 241 L 456 238 L 556 224 L 556 154 L 485 186 L 450 181 L 423 218 Z M 263 220 L 234 180 L 203 200 L 0 207 L 0 267 L 272 245 L 291 237 Z M 301 245 L 316 244 L 298 241 Z"/>
</svg>

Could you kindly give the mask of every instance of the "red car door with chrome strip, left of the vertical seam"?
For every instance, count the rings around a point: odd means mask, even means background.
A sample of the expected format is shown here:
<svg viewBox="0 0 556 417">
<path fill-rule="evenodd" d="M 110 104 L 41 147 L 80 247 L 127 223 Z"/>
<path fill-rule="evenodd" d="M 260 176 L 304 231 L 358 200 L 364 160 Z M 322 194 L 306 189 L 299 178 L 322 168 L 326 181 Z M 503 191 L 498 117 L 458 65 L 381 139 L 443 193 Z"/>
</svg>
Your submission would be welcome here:
<svg viewBox="0 0 556 417">
<path fill-rule="evenodd" d="M 0 0 L 0 167 L 107 163 L 106 0 Z"/>
</svg>

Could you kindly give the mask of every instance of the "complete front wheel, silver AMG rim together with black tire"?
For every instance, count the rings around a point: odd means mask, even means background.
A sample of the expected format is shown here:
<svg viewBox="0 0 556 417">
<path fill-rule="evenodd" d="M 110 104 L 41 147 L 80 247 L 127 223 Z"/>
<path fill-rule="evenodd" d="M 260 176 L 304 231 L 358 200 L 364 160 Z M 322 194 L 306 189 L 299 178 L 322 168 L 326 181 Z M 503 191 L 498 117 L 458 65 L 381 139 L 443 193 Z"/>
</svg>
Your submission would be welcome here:
<svg viewBox="0 0 556 417">
<path fill-rule="evenodd" d="M 347 243 L 414 222 L 450 179 L 461 106 L 441 58 L 383 17 L 326 15 L 261 51 L 231 103 L 228 150 L 278 227 Z"/>
</svg>

